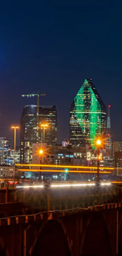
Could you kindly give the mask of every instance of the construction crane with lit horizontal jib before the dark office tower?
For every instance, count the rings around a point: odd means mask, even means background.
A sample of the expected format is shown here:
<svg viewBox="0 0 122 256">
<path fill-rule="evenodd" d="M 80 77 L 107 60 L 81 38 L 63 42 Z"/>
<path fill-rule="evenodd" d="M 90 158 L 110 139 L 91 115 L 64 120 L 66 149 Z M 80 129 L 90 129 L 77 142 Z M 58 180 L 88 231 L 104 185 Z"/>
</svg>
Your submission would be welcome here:
<svg viewBox="0 0 122 256">
<path fill-rule="evenodd" d="M 45 96 L 46 94 L 39 94 L 38 93 L 32 93 L 32 94 L 22 94 L 21 97 L 35 97 L 37 96 L 37 111 L 36 111 L 36 125 L 37 125 L 37 143 L 38 143 L 38 128 L 39 128 L 39 97 L 40 96 Z"/>
</svg>

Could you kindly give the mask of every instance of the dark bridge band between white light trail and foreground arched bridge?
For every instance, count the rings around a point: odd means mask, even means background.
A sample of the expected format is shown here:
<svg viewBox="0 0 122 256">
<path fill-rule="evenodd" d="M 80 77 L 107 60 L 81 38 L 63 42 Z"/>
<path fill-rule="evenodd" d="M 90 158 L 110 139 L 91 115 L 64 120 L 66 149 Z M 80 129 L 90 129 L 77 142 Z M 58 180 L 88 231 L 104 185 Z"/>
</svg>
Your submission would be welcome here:
<svg viewBox="0 0 122 256">
<path fill-rule="evenodd" d="M 90 186 L 81 186 L 83 183 L 63 183 L 57 187 L 56 183 L 49 189 L 42 186 L 3 188 L 0 190 L 0 218 L 121 202 L 121 183 L 117 183 L 117 186 L 107 184 L 109 183 L 96 187 L 91 186 L 92 183 L 88 183 Z M 65 188 L 65 185 L 70 186 Z"/>
</svg>

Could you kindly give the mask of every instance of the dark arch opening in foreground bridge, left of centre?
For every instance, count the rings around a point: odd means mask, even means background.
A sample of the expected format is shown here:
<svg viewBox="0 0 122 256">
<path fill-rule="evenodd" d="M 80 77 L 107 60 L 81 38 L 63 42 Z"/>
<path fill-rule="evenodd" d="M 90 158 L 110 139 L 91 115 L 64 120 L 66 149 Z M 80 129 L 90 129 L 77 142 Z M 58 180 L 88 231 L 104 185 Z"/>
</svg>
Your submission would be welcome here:
<svg viewBox="0 0 122 256">
<path fill-rule="evenodd" d="M 39 230 L 29 254 L 31 256 L 71 256 L 71 247 L 63 224 L 58 220 L 48 220 Z"/>
</svg>

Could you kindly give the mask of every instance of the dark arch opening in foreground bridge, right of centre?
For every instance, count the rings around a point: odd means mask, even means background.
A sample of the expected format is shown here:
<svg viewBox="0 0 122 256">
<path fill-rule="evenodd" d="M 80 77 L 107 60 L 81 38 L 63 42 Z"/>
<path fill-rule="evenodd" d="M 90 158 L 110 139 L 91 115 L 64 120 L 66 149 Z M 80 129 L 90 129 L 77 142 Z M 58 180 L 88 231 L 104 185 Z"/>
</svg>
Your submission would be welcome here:
<svg viewBox="0 0 122 256">
<path fill-rule="evenodd" d="M 95 213 L 87 226 L 80 255 L 113 255 L 107 224 L 100 213 Z"/>
</svg>

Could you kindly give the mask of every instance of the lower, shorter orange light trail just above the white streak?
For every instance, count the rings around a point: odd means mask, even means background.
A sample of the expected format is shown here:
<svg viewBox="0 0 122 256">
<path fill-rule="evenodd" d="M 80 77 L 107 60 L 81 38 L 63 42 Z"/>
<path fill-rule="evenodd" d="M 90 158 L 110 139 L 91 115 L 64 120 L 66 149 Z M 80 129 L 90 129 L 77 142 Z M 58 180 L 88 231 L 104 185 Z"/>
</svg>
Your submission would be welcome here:
<svg viewBox="0 0 122 256">
<path fill-rule="evenodd" d="M 18 169 L 18 171 L 40 171 L 40 169 Z M 66 172 L 65 170 L 43 170 L 41 169 L 41 172 Z M 72 173 L 97 173 L 97 171 L 77 171 L 77 170 L 68 170 L 67 172 L 72 172 Z M 108 174 L 112 173 L 111 171 L 99 171 L 99 173 L 102 174 Z"/>
</svg>

